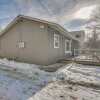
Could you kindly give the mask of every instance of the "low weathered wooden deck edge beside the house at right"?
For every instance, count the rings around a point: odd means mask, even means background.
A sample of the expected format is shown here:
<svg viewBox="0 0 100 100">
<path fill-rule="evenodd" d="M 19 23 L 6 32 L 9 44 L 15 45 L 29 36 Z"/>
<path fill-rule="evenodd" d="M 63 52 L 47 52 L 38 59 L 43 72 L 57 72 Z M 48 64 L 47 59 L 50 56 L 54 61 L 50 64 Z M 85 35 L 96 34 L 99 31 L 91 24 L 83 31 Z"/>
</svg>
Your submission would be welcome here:
<svg viewBox="0 0 100 100">
<path fill-rule="evenodd" d="M 64 63 L 64 64 L 69 64 L 69 63 L 78 63 L 78 64 L 83 64 L 83 65 L 93 65 L 93 66 L 100 66 L 100 61 L 96 61 L 96 60 L 74 60 L 74 59 L 63 59 L 60 60 L 59 63 Z"/>
</svg>

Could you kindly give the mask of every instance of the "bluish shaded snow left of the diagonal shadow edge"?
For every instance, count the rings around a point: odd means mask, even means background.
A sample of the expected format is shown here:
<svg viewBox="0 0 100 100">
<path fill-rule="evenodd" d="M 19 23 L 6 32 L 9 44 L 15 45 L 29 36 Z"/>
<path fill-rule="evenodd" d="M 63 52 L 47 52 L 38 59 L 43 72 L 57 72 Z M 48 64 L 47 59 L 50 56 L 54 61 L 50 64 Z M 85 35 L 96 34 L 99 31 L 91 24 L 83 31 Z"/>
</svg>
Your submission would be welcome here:
<svg viewBox="0 0 100 100">
<path fill-rule="evenodd" d="M 51 82 L 54 74 L 33 64 L 0 60 L 0 100 L 27 100 Z"/>
</svg>

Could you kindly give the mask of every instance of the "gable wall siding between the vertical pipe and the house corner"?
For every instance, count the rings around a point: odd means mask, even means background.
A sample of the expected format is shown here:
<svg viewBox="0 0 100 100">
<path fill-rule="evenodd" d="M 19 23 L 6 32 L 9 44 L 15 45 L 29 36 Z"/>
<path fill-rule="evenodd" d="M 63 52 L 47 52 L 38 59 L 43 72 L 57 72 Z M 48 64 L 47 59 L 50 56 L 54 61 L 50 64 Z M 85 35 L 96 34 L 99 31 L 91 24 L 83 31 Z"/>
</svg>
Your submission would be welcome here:
<svg viewBox="0 0 100 100">
<path fill-rule="evenodd" d="M 40 26 L 44 25 L 41 29 Z M 22 42 L 25 49 L 20 50 L 20 59 L 36 64 L 47 63 L 47 26 L 36 21 L 23 19 Z"/>
</svg>

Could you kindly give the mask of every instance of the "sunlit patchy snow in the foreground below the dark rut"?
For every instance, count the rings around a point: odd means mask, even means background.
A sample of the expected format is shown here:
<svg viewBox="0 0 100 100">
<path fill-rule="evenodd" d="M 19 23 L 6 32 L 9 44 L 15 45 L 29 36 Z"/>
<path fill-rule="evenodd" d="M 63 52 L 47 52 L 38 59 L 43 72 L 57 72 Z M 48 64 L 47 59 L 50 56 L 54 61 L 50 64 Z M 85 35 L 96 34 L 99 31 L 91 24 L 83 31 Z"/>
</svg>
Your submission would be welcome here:
<svg viewBox="0 0 100 100">
<path fill-rule="evenodd" d="M 51 83 L 28 100 L 100 100 L 100 91 L 78 85 Z"/>
</svg>

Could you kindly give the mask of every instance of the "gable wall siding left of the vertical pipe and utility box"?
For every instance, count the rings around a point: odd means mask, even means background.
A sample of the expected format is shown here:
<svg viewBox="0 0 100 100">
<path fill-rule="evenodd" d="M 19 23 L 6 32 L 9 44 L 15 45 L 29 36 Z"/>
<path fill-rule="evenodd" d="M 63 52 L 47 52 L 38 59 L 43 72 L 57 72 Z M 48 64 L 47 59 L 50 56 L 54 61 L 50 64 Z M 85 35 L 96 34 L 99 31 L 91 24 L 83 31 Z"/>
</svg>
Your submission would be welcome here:
<svg viewBox="0 0 100 100">
<path fill-rule="evenodd" d="M 0 55 L 1 57 L 6 57 L 9 59 L 15 59 L 17 57 L 17 43 L 19 41 L 18 31 L 19 23 L 17 23 L 7 34 L 1 37 L 1 48 Z"/>
</svg>

